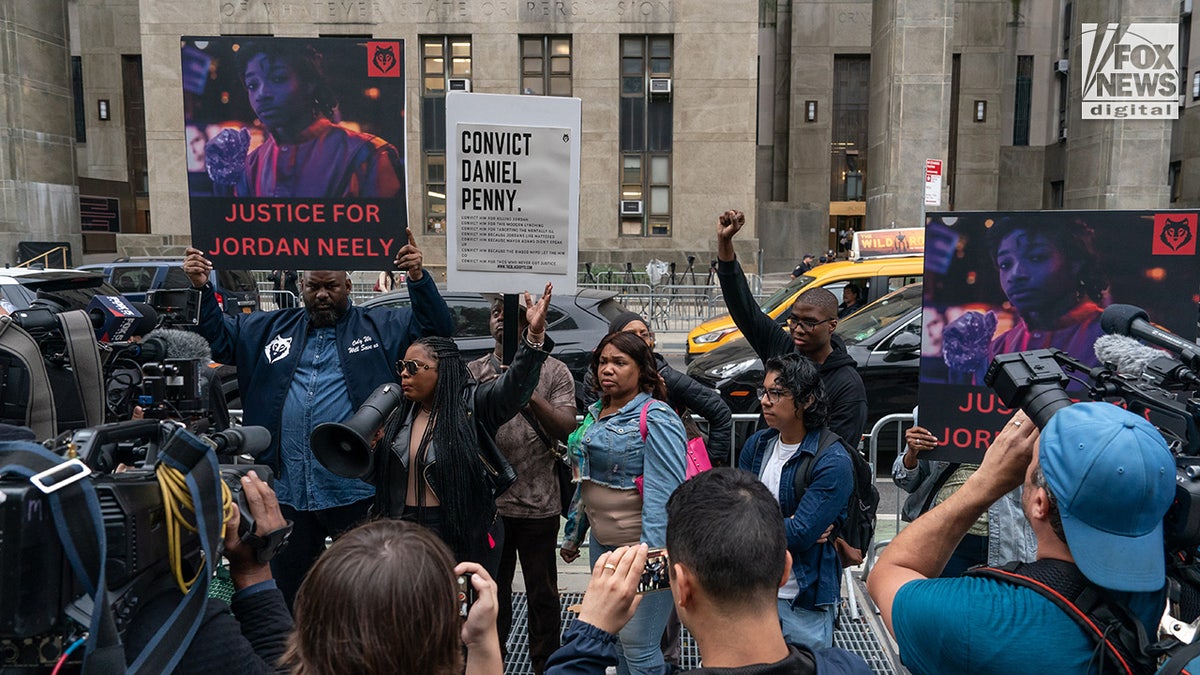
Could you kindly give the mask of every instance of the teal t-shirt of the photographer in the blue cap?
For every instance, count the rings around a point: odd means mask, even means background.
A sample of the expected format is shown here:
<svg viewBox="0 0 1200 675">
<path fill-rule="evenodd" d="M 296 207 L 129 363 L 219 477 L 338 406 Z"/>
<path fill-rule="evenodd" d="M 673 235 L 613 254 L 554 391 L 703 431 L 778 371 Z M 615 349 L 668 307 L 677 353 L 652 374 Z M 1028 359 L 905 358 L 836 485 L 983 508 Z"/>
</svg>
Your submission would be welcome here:
<svg viewBox="0 0 1200 675">
<path fill-rule="evenodd" d="M 1158 626 L 1162 592 L 1121 596 L 1144 623 Z M 914 675 L 1085 674 L 1097 646 L 1037 591 L 971 577 L 905 584 L 892 626 L 900 661 Z"/>
</svg>

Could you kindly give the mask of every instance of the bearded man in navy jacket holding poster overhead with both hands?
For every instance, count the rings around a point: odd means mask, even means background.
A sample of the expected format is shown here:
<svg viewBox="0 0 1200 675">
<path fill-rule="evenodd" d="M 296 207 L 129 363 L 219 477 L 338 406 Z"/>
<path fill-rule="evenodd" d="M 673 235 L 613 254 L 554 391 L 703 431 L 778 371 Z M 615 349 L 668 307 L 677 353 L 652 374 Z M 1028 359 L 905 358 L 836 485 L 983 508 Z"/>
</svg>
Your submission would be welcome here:
<svg viewBox="0 0 1200 675">
<path fill-rule="evenodd" d="M 412 307 L 354 306 L 348 273 L 308 270 L 302 307 L 232 317 L 212 293 L 212 263 L 187 250 L 184 270 L 202 294 L 199 333 L 215 359 L 238 366 L 245 424 L 271 431 L 271 446 L 257 460 L 275 470 L 283 515 L 295 524 L 288 548 L 271 561 L 289 607 L 325 537 L 361 521 L 374 495 L 370 484 L 322 466 L 310 434 L 348 419 L 376 387 L 395 381 L 394 364 L 413 341 L 454 334 L 450 310 L 421 262 L 409 229 L 395 264 L 407 273 Z"/>
</svg>

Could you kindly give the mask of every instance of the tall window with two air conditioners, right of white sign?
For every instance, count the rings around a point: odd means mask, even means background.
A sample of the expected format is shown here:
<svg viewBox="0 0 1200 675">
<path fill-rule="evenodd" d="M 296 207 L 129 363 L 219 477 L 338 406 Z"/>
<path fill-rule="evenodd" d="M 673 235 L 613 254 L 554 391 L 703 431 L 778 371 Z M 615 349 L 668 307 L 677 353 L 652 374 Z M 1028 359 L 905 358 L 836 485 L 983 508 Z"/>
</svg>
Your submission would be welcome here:
<svg viewBox="0 0 1200 675">
<path fill-rule="evenodd" d="M 671 237 L 673 53 L 670 35 L 620 38 L 623 237 Z"/>
</svg>

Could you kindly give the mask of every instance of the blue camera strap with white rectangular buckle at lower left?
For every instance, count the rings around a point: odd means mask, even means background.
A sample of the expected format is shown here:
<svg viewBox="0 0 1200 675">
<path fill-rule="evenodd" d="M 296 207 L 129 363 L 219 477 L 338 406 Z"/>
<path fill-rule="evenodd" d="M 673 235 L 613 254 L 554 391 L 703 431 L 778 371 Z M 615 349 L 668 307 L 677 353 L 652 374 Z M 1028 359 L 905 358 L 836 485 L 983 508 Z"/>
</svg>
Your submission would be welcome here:
<svg viewBox="0 0 1200 675">
<path fill-rule="evenodd" d="M 125 650 L 104 584 L 107 539 L 91 471 L 82 461 L 67 460 L 36 443 L 10 442 L 0 443 L 2 474 L 29 478 L 47 495 L 62 551 L 91 598 L 95 609 L 84 646 L 84 675 L 124 673 Z"/>
</svg>

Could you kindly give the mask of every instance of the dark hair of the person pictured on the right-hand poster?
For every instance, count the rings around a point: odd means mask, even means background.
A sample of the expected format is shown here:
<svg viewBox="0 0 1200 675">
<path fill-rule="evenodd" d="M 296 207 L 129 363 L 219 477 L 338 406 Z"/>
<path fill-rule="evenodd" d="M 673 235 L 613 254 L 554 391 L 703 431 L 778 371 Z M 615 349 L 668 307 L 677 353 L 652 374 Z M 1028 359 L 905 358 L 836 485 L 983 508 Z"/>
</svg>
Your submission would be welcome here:
<svg viewBox="0 0 1200 675">
<path fill-rule="evenodd" d="M 1082 219 L 1067 219 L 1062 214 L 1021 214 L 1004 216 L 988 228 L 988 252 L 996 265 L 1000 245 L 1004 238 L 1024 229 L 1045 237 L 1063 258 L 1079 264 L 1076 294 L 1099 301 L 1109 287 L 1108 275 L 1096 252 L 1096 233 Z M 998 265 L 997 265 L 998 269 Z"/>
</svg>

